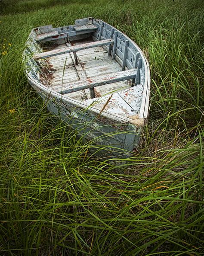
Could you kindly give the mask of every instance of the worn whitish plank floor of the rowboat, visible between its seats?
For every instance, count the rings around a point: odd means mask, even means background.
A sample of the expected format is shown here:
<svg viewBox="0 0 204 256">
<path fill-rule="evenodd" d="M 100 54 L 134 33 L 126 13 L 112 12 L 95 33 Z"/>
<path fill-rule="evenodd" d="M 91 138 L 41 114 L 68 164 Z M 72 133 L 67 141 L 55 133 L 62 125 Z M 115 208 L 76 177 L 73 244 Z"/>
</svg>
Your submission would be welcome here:
<svg viewBox="0 0 204 256">
<path fill-rule="evenodd" d="M 76 40 L 70 43 L 53 45 L 53 49 L 62 49 L 68 46 L 82 45 L 94 42 L 89 36 L 83 40 Z M 50 46 L 44 44 L 43 51 L 49 51 Z M 85 82 L 94 78 L 104 77 L 105 74 L 112 74 L 121 71 L 121 65 L 108 55 L 108 51 L 102 46 L 88 48 L 77 52 L 65 53 L 62 55 L 51 56 L 45 60 L 41 60 L 43 74 L 40 79 L 45 86 L 50 89 L 60 91 L 69 84 L 77 81 Z M 51 74 L 51 76 L 50 76 Z M 44 76 L 47 76 L 44 77 Z M 45 79 L 44 79 L 45 78 Z M 131 81 L 124 80 L 111 84 L 104 84 L 93 88 L 93 95 L 89 89 L 79 90 L 77 92 L 68 93 L 68 96 L 77 100 L 91 99 L 108 95 L 114 91 L 124 90 L 130 87 Z M 64 96 L 66 93 L 64 94 Z"/>
</svg>

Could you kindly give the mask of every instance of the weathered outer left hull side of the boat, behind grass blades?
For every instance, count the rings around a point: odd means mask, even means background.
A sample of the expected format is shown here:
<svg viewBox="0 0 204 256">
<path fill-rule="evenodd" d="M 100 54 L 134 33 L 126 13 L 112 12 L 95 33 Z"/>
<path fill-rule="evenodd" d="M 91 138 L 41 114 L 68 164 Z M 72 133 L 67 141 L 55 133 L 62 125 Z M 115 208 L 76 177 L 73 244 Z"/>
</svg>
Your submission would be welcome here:
<svg viewBox="0 0 204 256">
<path fill-rule="evenodd" d="M 104 157 L 107 157 L 107 154 L 109 157 L 126 158 L 130 156 L 130 152 L 126 150 L 133 148 L 133 143 L 130 145 L 128 143 L 131 138 L 135 138 L 135 134 L 127 139 L 127 129 L 131 134 L 133 125 L 112 123 L 110 120 L 97 117 L 84 109 L 70 106 L 64 99 L 60 100 L 49 97 L 39 87 L 36 87 L 34 84 L 32 86 L 46 102 L 49 112 L 57 115 L 60 120 L 68 125 L 71 125 L 80 137 L 83 138 L 84 142 L 91 141 L 90 143 L 93 145 L 102 146 Z"/>
</svg>

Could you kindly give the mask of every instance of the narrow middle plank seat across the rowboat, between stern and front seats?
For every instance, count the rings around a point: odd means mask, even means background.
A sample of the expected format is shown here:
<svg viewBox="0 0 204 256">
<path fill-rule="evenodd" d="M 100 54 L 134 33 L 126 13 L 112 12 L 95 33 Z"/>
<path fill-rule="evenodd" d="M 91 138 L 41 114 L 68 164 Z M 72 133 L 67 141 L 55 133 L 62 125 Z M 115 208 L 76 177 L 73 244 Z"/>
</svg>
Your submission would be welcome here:
<svg viewBox="0 0 204 256">
<path fill-rule="evenodd" d="M 62 49 L 58 49 L 58 50 L 37 53 L 37 54 L 34 54 L 33 58 L 35 60 L 39 60 L 39 59 L 44 59 L 44 58 L 48 58 L 51 56 L 65 54 L 65 53 L 69 53 L 69 52 L 73 52 L 73 51 L 80 51 L 80 50 L 84 50 L 84 49 L 88 49 L 88 48 L 93 48 L 96 46 L 110 45 L 113 42 L 114 42 L 114 40 L 110 38 L 110 39 L 86 43 L 86 44 L 82 44 L 82 45 L 74 45 L 71 47 L 66 47 L 66 48 L 62 48 Z"/>
</svg>

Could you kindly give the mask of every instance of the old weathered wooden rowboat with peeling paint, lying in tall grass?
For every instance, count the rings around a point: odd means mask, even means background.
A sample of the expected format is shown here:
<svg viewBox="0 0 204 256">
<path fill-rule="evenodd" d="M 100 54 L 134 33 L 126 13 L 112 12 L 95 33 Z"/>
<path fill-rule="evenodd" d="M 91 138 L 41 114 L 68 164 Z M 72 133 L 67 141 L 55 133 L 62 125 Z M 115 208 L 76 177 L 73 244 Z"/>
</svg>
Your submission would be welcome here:
<svg viewBox="0 0 204 256">
<path fill-rule="evenodd" d="M 49 111 L 83 139 L 114 148 L 112 156 L 136 150 L 148 115 L 150 71 L 127 35 L 94 18 L 38 27 L 28 37 L 23 62 Z"/>
</svg>

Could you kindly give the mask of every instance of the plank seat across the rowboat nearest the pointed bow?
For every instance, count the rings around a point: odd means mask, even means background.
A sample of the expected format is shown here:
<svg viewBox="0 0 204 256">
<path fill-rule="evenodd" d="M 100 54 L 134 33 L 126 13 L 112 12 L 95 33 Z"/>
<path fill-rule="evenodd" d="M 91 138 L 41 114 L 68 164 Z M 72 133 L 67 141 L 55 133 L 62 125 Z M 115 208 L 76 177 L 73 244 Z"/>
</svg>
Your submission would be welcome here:
<svg viewBox="0 0 204 256">
<path fill-rule="evenodd" d="M 62 90 L 62 86 L 55 87 L 58 93 L 66 94 L 73 93 L 80 90 L 94 88 L 96 86 L 101 86 L 109 83 L 121 82 L 128 79 L 133 79 L 136 76 L 136 69 L 129 69 L 124 71 L 119 71 L 115 73 L 106 74 L 99 77 L 92 77 L 87 79 L 87 81 L 78 81 L 76 83 L 71 83 Z"/>
</svg>

